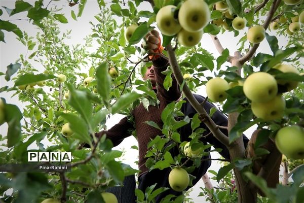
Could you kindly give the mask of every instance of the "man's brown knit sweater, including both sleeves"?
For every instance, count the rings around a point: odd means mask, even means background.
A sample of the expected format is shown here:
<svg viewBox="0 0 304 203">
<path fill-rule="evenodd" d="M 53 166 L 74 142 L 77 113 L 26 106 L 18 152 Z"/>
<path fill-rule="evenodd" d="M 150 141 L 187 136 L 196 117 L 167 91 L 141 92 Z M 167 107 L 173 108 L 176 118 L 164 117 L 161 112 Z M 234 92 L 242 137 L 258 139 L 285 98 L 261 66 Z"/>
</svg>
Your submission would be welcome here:
<svg viewBox="0 0 304 203">
<path fill-rule="evenodd" d="M 101 136 L 106 134 L 114 146 L 119 145 L 123 139 L 131 136 L 132 129 L 136 129 L 138 148 L 139 148 L 139 174 L 148 171 L 148 168 L 145 166 L 146 158 L 144 157 L 147 152 L 147 144 L 151 139 L 154 139 L 157 135 L 162 136 L 162 132 L 155 127 L 152 127 L 145 123 L 145 121 L 154 121 L 162 128 L 163 122 L 161 119 L 161 114 L 167 104 L 179 99 L 181 92 L 179 86 L 174 76 L 172 76 L 172 86 L 169 91 L 165 90 L 163 82 L 165 75 L 161 72 L 167 69 L 169 62 L 164 58 L 158 58 L 153 61 L 156 83 L 157 83 L 157 97 L 160 101 L 160 104 L 157 106 L 149 106 L 148 111 L 144 108 L 142 104 L 139 104 L 133 111 L 132 115 L 134 117 L 133 123 L 128 122 L 127 117 L 123 118 L 118 124 L 111 127 L 109 130 L 101 131 L 96 133 L 96 136 Z"/>
</svg>

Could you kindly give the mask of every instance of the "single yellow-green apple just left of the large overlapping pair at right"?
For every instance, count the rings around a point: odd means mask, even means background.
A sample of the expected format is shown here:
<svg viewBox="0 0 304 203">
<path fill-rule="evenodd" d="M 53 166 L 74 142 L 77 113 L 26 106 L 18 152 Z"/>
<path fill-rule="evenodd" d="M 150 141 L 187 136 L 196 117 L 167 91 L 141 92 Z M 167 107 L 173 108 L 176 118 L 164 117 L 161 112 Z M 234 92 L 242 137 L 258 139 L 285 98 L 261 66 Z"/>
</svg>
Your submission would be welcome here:
<svg viewBox="0 0 304 203">
<path fill-rule="evenodd" d="M 226 90 L 229 90 L 229 84 L 222 78 L 212 78 L 206 83 L 207 96 L 216 102 L 227 98 Z"/>
</svg>

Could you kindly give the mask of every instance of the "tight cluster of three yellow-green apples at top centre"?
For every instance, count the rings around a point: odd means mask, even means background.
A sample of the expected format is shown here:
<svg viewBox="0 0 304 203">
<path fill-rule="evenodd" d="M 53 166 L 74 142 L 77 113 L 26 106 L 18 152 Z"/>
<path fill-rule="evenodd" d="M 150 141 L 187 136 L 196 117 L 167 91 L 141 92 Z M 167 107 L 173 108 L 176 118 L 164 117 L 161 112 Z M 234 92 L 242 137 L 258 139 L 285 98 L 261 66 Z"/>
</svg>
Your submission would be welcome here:
<svg viewBox="0 0 304 203">
<path fill-rule="evenodd" d="M 177 19 L 176 10 L 174 5 L 161 8 L 156 16 L 158 28 L 163 35 L 177 35 L 177 41 L 185 47 L 197 45 L 203 37 L 203 28 L 210 21 L 207 3 L 204 0 L 185 1 L 178 10 Z"/>
</svg>

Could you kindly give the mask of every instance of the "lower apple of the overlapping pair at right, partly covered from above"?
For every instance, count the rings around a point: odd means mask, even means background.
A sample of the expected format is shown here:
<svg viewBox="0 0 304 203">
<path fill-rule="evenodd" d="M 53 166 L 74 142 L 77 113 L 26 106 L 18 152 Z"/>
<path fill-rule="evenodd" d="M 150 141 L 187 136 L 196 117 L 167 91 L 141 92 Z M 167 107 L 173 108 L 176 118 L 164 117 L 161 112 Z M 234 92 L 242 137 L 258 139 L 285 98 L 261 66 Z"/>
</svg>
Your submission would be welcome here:
<svg viewBox="0 0 304 203">
<path fill-rule="evenodd" d="M 256 117 L 262 118 L 265 121 L 272 121 L 283 118 L 285 106 L 284 97 L 277 95 L 264 103 L 252 101 L 251 110 Z"/>
</svg>

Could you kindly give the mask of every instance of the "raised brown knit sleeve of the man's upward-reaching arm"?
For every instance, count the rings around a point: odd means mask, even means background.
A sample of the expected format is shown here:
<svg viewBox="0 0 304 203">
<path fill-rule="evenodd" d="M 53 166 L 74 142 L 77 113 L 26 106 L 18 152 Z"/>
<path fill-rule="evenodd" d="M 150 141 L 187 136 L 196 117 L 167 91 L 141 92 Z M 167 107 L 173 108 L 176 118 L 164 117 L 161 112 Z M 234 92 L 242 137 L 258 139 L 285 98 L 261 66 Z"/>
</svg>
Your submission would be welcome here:
<svg viewBox="0 0 304 203">
<path fill-rule="evenodd" d="M 155 76 L 156 76 L 156 83 L 157 83 L 157 90 L 167 101 L 176 101 L 179 99 L 181 92 L 179 90 L 179 85 L 172 74 L 172 86 L 167 91 L 164 88 L 164 80 L 166 75 L 162 74 L 163 71 L 166 71 L 168 65 L 170 65 L 169 61 L 163 57 L 159 57 L 158 59 L 153 61 Z"/>
</svg>

